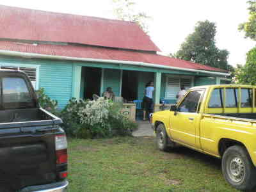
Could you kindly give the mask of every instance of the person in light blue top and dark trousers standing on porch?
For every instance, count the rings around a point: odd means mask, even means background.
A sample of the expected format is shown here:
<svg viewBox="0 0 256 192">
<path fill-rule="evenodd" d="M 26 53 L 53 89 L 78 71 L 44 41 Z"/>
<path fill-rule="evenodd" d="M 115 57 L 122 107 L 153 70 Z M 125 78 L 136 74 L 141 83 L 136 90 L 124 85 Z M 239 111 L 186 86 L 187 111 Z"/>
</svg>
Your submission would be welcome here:
<svg viewBox="0 0 256 192">
<path fill-rule="evenodd" d="M 143 120 L 146 120 L 150 113 L 152 113 L 153 108 L 153 92 L 154 92 L 154 83 L 153 81 L 150 81 L 145 86 L 145 96 L 143 98 Z"/>
</svg>

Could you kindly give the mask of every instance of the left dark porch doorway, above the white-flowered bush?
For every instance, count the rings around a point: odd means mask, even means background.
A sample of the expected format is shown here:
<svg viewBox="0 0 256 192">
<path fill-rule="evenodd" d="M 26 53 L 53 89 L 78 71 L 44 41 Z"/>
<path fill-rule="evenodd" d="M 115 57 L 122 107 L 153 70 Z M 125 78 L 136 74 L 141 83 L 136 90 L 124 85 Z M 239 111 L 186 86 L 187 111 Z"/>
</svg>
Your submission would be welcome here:
<svg viewBox="0 0 256 192">
<path fill-rule="evenodd" d="M 84 99 L 93 99 L 93 94 L 100 96 L 101 68 L 83 67 Z"/>
</svg>

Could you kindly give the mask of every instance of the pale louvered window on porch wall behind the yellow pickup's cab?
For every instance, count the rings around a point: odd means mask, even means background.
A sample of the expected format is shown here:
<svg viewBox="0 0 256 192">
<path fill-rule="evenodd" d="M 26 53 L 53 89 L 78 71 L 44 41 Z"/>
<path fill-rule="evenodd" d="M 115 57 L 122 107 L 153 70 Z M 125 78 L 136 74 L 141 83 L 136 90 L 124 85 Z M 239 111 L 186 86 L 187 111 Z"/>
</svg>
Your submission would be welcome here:
<svg viewBox="0 0 256 192">
<path fill-rule="evenodd" d="M 176 99 L 177 93 L 180 91 L 180 86 L 184 85 L 185 89 L 188 90 L 192 85 L 191 77 L 179 77 L 179 76 L 167 76 L 166 77 L 166 99 Z"/>
</svg>

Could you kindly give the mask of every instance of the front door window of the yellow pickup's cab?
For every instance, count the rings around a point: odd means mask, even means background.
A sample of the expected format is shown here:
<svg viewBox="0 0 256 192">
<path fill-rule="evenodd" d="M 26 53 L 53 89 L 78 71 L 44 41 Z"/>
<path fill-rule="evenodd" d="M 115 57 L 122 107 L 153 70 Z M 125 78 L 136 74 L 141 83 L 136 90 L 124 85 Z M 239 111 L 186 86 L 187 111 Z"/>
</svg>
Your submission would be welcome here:
<svg viewBox="0 0 256 192">
<path fill-rule="evenodd" d="M 184 100 L 180 104 L 178 111 L 196 113 L 201 94 L 202 94 L 202 91 L 189 92 L 188 95 L 184 98 Z"/>
</svg>

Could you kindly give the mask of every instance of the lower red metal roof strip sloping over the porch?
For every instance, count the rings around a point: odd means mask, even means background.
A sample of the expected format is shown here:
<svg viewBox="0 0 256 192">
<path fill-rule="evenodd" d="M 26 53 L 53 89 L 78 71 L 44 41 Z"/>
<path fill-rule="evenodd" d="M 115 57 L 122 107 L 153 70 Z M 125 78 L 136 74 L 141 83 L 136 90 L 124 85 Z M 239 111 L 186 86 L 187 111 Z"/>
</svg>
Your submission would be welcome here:
<svg viewBox="0 0 256 192">
<path fill-rule="evenodd" d="M 227 72 L 220 68 L 209 67 L 189 61 L 161 56 L 148 52 L 124 51 L 118 49 L 92 47 L 88 45 L 32 45 L 20 44 L 15 42 L 0 42 L 0 50 L 31 52 L 38 54 L 49 54 L 54 56 L 69 56 L 76 58 L 93 58 L 101 60 L 120 60 L 120 61 L 139 61 L 144 63 L 153 63 L 171 67 L 192 68 L 198 70 L 211 70 L 218 72 Z"/>
</svg>

